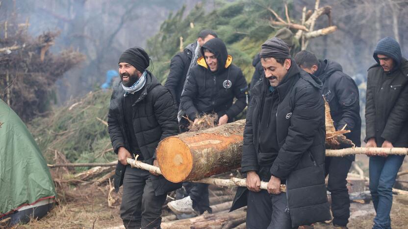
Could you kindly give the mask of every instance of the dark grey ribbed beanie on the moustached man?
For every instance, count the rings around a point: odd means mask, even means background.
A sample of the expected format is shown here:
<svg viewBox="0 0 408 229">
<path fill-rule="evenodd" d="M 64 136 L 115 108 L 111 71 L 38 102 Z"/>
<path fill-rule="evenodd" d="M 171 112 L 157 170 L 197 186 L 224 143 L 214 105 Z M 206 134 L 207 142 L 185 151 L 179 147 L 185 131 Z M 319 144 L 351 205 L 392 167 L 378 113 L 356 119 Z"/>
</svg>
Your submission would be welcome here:
<svg viewBox="0 0 408 229">
<path fill-rule="evenodd" d="M 275 59 L 291 58 L 289 54 L 289 46 L 277 37 L 271 38 L 262 44 L 259 57 L 273 57 Z"/>
</svg>

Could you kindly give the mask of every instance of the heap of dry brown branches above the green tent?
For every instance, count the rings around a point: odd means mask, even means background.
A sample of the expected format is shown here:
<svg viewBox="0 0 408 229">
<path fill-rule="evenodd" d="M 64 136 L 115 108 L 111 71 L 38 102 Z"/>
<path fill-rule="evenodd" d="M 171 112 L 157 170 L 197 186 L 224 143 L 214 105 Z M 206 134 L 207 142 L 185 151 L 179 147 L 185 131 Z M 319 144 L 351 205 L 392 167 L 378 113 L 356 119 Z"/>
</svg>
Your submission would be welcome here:
<svg viewBox="0 0 408 229">
<path fill-rule="evenodd" d="M 44 32 L 32 38 L 27 26 L 6 23 L 4 37 L 0 38 L 0 98 L 24 121 L 48 112 L 55 95 L 55 82 L 66 71 L 84 60 L 72 49 L 53 55 L 49 48 L 58 31 Z"/>
</svg>

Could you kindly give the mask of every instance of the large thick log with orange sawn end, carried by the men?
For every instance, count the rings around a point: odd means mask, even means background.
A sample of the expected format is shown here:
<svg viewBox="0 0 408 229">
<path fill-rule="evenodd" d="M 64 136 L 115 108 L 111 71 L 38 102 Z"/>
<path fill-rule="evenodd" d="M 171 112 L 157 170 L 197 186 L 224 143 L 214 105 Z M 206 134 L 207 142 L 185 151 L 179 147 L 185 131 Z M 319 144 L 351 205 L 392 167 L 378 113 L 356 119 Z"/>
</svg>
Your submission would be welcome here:
<svg viewBox="0 0 408 229">
<path fill-rule="evenodd" d="M 245 120 L 199 132 L 167 137 L 157 146 L 163 176 L 171 182 L 194 181 L 239 167 Z"/>
</svg>

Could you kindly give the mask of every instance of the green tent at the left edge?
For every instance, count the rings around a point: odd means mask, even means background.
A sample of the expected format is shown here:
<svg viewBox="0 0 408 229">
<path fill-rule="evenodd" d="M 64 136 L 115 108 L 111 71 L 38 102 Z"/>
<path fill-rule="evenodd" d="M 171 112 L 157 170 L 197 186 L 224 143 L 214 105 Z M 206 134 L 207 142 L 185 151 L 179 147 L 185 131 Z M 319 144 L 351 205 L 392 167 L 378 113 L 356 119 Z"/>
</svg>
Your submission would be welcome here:
<svg viewBox="0 0 408 229">
<path fill-rule="evenodd" d="M 20 117 L 0 99 L 0 220 L 11 225 L 41 217 L 56 193 L 37 143 Z"/>
</svg>

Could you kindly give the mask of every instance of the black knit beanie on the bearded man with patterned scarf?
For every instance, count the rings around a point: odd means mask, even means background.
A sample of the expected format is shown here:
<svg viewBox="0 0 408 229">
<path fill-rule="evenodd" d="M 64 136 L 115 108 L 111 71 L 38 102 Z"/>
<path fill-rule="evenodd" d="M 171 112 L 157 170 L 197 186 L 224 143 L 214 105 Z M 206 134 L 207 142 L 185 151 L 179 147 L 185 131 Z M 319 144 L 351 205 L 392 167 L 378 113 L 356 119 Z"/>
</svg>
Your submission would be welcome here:
<svg viewBox="0 0 408 229">
<path fill-rule="evenodd" d="M 121 62 L 131 64 L 137 70 L 143 72 L 149 67 L 150 58 L 143 48 L 132 47 L 122 53 L 119 58 L 119 63 Z"/>
</svg>

